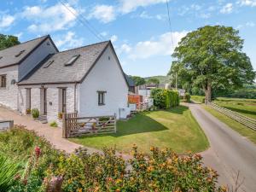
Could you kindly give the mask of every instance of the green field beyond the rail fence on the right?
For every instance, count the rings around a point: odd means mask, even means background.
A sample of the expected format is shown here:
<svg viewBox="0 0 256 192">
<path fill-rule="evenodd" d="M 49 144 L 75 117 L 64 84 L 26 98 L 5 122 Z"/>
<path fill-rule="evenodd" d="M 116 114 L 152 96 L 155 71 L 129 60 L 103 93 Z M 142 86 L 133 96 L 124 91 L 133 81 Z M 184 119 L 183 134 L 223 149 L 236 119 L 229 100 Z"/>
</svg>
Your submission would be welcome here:
<svg viewBox="0 0 256 192">
<path fill-rule="evenodd" d="M 256 119 L 256 99 L 218 97 L 213 102 L 224 108 L 228 108 L 232 111 L 244 114 L 247 117 Z"/>
</svg>

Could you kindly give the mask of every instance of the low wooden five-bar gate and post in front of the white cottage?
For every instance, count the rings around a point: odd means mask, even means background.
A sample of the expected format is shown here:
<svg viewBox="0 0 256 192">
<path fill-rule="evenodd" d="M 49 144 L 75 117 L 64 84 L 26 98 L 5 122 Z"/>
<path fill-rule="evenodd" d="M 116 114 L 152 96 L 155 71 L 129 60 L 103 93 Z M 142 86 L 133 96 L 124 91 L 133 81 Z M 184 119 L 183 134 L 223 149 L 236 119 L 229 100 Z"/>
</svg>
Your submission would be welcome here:
<svg viewBox="0 0 256 192">
<path fill-rule="evenodd" d="M 63 113 L 62 137 L 80 137 L 116 132 L 116 117 L 78 117 L 77 113 Z"/>
</svg>

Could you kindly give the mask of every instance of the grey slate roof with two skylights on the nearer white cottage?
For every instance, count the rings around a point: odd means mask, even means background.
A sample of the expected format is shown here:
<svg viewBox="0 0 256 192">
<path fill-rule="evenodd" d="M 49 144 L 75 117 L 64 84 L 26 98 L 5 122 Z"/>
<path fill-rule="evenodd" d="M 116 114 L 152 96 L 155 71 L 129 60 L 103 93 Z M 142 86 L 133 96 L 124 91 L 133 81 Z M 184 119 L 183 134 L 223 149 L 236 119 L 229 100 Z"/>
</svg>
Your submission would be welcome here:
<svg viewBox="0 0 256 192">
<path fill-rule="evenodd" d="M 91 44 L 77 49 L 70 49 L 49 55 L 38 67 L 32 70 L 19 84 L 55 84 L 75 83 L 84 79 L 90 68 L 96 63 L 103 51 L 111 44 L 109 41 Z M 80 55 L 71 66 L 65 67 L 73 55 Z M 49 67 L 44 68 L 49 61 Z"/>
</svg>

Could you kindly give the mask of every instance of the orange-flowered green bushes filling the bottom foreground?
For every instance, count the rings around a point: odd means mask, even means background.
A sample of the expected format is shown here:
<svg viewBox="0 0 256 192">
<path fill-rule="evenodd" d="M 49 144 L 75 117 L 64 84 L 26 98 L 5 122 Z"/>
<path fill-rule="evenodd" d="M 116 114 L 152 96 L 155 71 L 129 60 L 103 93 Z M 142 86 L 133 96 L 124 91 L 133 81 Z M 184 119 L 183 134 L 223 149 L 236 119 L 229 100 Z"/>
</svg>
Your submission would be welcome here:
<svg viewBox="0 0 256 192">
<path fill-rule="evenodd" d="M 25 130 L 11 132 L 24 135 L 22 131 Z M 0 133 L 0 137 L 8 132 Z M 170 149 L 159 148 L 150 148 L 150 154 L 143 154 L 136 146 L 127 161 L 116 154 L 115 148 L 104 148 L 102 154 L 88 154 L 83 148 L 75 154 L 65 154 L 33 132 L 25 132 L 34 137 L 33 147 L 27 145 L 31 155 L 23 166 L 24 174 L 17 178 L 10 192 L 226 190 L 217 187 L 217 173 L 202 166 L 198 154 L 177 155 Z M 26 143 L 25 137 L 21 138 Z"/>
</svg>

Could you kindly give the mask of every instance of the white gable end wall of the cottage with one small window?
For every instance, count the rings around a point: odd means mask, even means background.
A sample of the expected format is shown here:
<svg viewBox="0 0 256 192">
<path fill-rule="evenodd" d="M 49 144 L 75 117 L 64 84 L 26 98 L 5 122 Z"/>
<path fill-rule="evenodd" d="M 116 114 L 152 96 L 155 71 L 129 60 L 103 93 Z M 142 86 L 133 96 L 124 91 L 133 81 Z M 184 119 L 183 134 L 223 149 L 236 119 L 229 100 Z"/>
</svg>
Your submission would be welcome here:
<svg viewBox="0 0 256 192">
<path fill-rule="evenodd" d="M 108 56 L 110 60 L 108 60 Z M 107 91 L 105 105 L 98 105 L 97 91 Z M 102 54 L 96 65 L 79 85 L 79 116 L 102 116 L 125 113 L 127 108 L 128 86 L 119 68 L 112 49 Z M 123 116 L 121 114 L 121 116 Z"/>
</svg>

